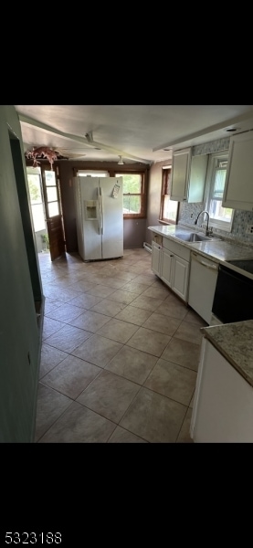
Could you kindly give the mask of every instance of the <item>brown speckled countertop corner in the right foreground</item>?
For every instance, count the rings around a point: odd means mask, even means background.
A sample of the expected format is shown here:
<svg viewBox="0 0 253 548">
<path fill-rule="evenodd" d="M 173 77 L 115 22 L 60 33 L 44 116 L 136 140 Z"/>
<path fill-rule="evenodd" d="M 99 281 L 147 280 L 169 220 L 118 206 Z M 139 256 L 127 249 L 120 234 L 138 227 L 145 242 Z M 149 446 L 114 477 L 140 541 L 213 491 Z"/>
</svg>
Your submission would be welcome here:
<svg viewBox="0 0 253 548">
<path fill-rule="evenodd" d="M 202 327 L 200 331 L 253 386 L 253 320 Z"/>
</svg>

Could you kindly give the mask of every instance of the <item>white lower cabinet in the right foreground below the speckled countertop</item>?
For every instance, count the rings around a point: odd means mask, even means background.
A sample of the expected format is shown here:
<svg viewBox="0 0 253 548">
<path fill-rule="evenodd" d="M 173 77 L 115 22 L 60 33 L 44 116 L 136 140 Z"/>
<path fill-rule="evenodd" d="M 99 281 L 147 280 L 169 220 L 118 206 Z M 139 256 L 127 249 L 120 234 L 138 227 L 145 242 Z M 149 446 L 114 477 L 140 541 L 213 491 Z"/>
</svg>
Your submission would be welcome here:
<svg viewBox="0 0 253 548">
<path fill-rule="evenodd" d="M 253 387 L 203 337 L 190 435 L 195 443 L 252 443 Z"/>
</svg>

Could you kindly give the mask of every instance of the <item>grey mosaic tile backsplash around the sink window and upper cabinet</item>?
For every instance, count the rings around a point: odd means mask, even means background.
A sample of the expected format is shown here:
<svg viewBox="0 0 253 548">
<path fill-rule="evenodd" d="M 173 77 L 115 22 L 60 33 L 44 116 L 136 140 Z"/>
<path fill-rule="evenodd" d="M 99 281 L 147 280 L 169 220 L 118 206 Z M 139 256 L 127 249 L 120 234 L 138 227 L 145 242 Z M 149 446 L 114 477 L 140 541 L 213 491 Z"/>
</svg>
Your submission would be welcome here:
<svg viewBox="0 0 253 548">
<path fill-rule="evenodd" d="M 218 139 L 213 142 L 206 142 L 204 144 L 196 145 L 193 147 L 193 155 L 196 154 L 210 154 L 216 153 L 219 151 L 228 150 L 229 138 L 227 139 Z M 179 214 L 179 225 L 193 226 L 195 224 L 195 219 L 198 214 L 206 208 L 206 205 L 203 204 L 185 204 L 184 202 L 180 205 L 180 214 Z M 206 224 L 206 216 L 203 216 L 202 219 L 199 219 L 199 224 Z M 214 230 L 215 234 L 218 234 L 220 237 L 225 237 L 226 239 L 231 239 L 233 241 L 241 241 L 242 243 L 248 243 L 253 245 L 253 235 L 247 234 L 247 227 L 249 224 L 253 226 L 253 212 L 252 211 L 242 211 L 239 209 L 235 210 L 232 232 L 225 232 L 225 230 Z"/>
</svg>

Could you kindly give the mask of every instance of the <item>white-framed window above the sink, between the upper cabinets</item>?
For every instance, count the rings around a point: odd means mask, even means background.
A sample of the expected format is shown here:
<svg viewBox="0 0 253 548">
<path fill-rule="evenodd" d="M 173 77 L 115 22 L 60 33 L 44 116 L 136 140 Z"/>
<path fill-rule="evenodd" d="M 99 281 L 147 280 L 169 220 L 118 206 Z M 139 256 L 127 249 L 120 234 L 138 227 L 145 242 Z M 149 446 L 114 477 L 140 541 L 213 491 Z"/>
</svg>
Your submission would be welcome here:
<svg viewBox="0 0 253 548">
<path fill-rule="evenodd" d="M 226 174 L 227 154 L 211 154 L 207 173 L 209 195 L 206 205 L 210 216 L 210 226 L 231 232 L 234 209 L 222 207 Z"/>
</svg>

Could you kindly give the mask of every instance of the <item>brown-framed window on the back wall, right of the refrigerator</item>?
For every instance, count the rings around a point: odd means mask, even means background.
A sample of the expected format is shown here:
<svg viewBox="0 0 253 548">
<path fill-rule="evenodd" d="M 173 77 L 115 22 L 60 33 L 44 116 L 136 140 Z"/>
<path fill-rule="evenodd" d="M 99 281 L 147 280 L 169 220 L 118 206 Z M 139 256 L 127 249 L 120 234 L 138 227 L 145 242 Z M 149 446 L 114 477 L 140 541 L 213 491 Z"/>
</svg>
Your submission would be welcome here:
<svg viewBox="0 0 253 548">
<path fill-rule="evenodd" d="M 115 174 L 123 179 L 123 216 L 145 216 L 144 174 Z"/>
</svg>

